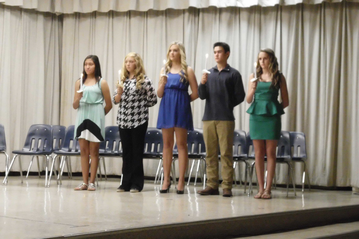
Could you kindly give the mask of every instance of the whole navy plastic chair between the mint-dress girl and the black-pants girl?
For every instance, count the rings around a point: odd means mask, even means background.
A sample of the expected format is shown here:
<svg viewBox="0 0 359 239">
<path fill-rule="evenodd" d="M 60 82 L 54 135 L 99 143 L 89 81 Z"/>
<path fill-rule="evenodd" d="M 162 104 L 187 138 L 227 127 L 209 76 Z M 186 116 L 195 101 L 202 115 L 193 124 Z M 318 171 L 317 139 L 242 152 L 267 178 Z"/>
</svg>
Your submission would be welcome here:
<svg viewBox="0 0 359 239">
<path fill-rule="evenodd" d="M 104 157 L 114 157 L 114 158 L 122 157 L 121 139 L 120 139 L 120 132 L 118 132 L 118 126 L 107 126 L 105 128 L 105 141 L 101 142 L 100 144 L 99 157 L 100 159 L 102 159 L 103 170 L 105 173 L 105 178 L 107 180 Z M 100 164 L 99 164 L 99 169 L 100 169 L 100 178 L 102 178 Z"/>
</svg>

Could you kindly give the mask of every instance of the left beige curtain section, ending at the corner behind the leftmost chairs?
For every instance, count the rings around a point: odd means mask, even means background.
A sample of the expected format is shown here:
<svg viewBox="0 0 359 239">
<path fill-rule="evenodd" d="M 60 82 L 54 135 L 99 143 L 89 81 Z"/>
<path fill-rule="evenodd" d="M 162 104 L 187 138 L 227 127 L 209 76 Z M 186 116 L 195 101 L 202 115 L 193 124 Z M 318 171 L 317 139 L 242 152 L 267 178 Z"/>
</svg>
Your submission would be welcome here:
<svg viewBox="0 0 359 239">
<path fill-rule="evenodd" d="M 23 147 L 32 124 L 59 124 L 62 24 L 55 14 L 0 5 L 0 32 L 0 123 L 10 154 Z M 25 170 L 29 161 L 23 158 Z"/>
</svg>

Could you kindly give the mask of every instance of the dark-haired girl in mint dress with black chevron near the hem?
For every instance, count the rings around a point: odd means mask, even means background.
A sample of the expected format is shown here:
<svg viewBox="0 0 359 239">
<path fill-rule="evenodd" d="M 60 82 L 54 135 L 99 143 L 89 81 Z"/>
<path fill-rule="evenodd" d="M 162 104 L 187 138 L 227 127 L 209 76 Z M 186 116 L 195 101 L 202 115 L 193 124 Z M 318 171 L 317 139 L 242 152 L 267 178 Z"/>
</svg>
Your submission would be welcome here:
<svg viewBox="0 0 359 239">
<path fill-rule="evenodd" d="M 81 82 L 82 80 L 82 87 Z M 105 107 L 103 107 L 105 102 Z M 74 109 L 77 109 L 75 138 L 79 140 L 83 183 L 75 190 L 94 191 L 98 168 L 100 142 L 104 140 L 105 115 L 111 110 L 111 95 L 107 82 L 101 76 L 98 57 L 85 58 L 83 78 L 75 83 Z M 91 157 L 91 167 L 90 167 Z M 89 169 L 91 169 L 90 181 Z"/>
</svg>

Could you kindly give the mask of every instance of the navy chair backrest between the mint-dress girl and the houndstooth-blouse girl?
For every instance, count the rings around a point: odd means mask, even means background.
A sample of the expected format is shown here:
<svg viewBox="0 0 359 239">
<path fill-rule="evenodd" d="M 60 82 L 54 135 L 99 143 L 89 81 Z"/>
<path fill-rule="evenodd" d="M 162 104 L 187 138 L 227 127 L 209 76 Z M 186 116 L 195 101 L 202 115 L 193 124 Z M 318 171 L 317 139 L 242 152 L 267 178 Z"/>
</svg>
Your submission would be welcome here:
<svg viewBox="0 0 359 239">
<path fill-rule="evenodd" d="M 100 143 L 100 150 L 104 153 L 121 153 L 121 139 L 118 126 L 106 126 L 105 141 Z"/>
</svg>

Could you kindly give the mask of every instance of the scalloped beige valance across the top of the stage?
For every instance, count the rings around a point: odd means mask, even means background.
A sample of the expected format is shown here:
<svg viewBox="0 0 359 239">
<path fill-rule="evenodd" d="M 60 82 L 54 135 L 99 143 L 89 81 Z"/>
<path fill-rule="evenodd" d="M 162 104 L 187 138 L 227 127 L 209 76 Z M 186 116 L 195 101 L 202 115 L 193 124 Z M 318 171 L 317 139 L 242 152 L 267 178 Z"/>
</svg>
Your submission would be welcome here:
<svg viewBox="0 0 359 239">
<path fill-rule="evenodd" d="M 92 13 L 93 11 L 106 13 L 108 11 L 148 11 L 166 9 L 187 9 L 240 7 L 250 6 L 275 6 L 339 3 L 344 0 L 0 0 L 0 3 L 9 6 L 20 6 L 21 8 L 36 9 L 51 13 Z M 346 0 L 356 2 L 359 0 Z"/>
</svg>

